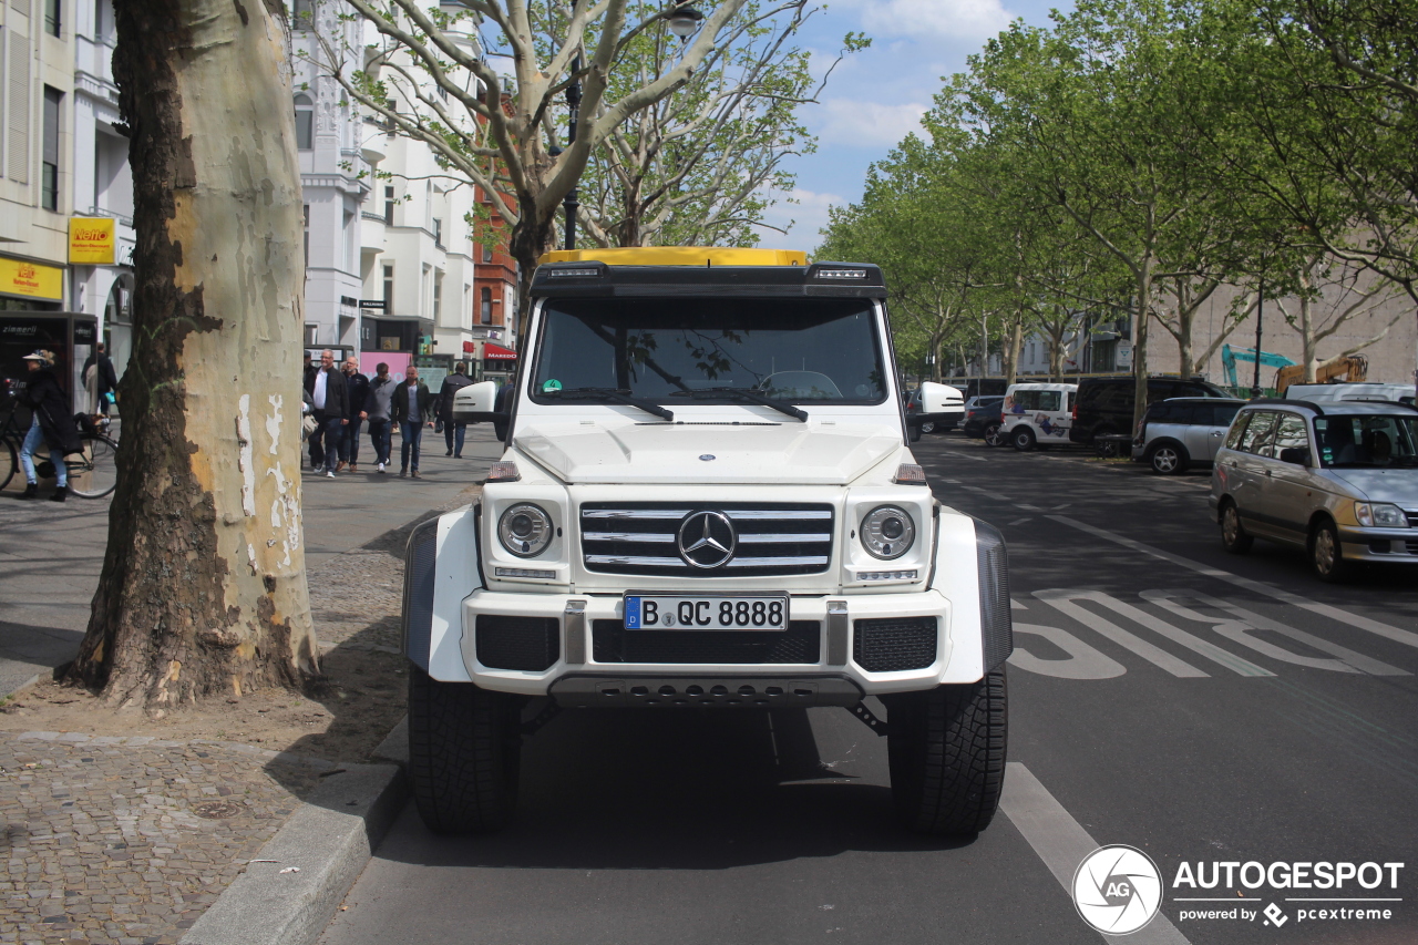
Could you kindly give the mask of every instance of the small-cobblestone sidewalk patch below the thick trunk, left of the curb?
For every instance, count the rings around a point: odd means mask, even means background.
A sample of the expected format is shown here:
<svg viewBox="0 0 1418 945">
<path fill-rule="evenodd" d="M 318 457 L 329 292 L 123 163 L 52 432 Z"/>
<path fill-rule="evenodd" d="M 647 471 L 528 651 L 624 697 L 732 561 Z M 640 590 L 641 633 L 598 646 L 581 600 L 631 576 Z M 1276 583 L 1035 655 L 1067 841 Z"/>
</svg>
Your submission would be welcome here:
<svg viewBox="0 0 1418 945">
<path fill-rule="evenodd" d="M 333 762 L 0 732 L 0 942 L 176 942 Z"/>
</svg>

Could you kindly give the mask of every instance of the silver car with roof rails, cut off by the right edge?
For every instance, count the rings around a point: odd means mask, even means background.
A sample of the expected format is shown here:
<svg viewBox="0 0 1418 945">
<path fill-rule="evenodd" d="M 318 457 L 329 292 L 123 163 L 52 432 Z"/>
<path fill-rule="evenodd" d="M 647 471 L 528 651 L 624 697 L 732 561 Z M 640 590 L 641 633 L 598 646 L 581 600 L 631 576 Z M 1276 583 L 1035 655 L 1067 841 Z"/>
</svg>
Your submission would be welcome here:
<svg viewBox="0 0 1418 945">
<path fill-rule="evenodd" d="M 1254 400 L 1236 414 L 1208 498 L 1227 551 L 1299 545 L 1320 580 L 1356 560 L 1418 565 L 1418 409 Z"/>
</svg>

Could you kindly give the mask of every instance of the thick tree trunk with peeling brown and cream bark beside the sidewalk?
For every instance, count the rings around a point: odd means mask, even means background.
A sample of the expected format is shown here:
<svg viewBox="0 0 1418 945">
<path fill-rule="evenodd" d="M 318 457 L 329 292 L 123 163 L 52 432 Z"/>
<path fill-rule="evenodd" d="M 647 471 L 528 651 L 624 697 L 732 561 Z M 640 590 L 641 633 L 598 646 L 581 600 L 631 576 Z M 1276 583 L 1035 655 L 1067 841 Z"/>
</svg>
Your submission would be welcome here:
<svg viewBox="0 0 1418 945">
<path fill-rule="evenodd" d="M 118 0 L 133 353 L 108 552 L 69 677 L 164 705 L 295 687 L 302 206 L 275 0 Z"/>
</svg>

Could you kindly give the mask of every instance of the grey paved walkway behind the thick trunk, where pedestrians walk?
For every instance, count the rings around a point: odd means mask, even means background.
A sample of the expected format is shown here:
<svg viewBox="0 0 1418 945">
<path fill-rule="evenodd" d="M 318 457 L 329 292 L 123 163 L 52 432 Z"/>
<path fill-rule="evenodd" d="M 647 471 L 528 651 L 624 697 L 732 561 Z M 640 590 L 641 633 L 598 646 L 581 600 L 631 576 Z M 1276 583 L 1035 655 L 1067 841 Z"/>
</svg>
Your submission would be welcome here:
<svg viewBox="0 0 1418 945">
<path fill-rule="evenodd" d="M 444 457 L 444 438 L 424 431 L 423 478 L 374 472 L 364 436 L 359 472 L 336 478 L 302 472 L 305 565 L 318 568 L 434 508 L 474 482 L 502 455 L 491 424 L 468 427 L 464 458 Z M 393 440 L 398 461 L 400 437 Z M 18 498 L 24 477 L 0 491 L 0 698 L 50 667 L 74 658 L 88 626 L 89 603 L 104 566 L 111 498 L 64 504 Z"/>
</svg>

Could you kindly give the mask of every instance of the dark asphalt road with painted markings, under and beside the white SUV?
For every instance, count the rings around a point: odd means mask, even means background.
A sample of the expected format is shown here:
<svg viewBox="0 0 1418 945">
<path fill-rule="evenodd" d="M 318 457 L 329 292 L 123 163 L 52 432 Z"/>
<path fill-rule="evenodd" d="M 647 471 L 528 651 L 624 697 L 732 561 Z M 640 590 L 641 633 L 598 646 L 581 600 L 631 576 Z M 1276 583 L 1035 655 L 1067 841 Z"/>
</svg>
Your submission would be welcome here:
<svg viewBox="0 0 1418 945">
<path fill-rule="evenodd" d="M 900 833 L 885 739 L 842 709 L 563 712 L 526 744 L 506 831 L 435 837 L 406 810 L 322 942 L 1098 942 L 1065 887 L 1102 844 L 1146 851 L 1164 885 L 1116 941 L 1418 941 L 1418 572 L 1333 587 L 1297 552 L 1228 556 L 1205 474 L 959 434 L 916 455 L 1010 545 L 988 830 Z M 1383 883 L 1176 885 L 1183 864 L 1249 861 L 1375 863 Z M 1353 908 L 1391 918 L 1317 912 Z"/>
</svg>

